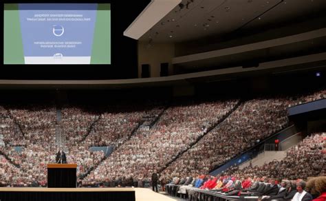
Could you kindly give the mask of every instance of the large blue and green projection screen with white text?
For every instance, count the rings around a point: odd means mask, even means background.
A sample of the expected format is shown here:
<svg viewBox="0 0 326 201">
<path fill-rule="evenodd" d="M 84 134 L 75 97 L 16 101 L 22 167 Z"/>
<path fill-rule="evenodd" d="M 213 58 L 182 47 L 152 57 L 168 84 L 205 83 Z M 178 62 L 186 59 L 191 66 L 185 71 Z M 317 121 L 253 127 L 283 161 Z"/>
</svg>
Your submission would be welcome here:
<svg viewBox="0 0 326 201">
<path fill-rule="evenodd" d="M 111 64 L 111 4 L 5 3 L 4 64 Z"/>
</svg>

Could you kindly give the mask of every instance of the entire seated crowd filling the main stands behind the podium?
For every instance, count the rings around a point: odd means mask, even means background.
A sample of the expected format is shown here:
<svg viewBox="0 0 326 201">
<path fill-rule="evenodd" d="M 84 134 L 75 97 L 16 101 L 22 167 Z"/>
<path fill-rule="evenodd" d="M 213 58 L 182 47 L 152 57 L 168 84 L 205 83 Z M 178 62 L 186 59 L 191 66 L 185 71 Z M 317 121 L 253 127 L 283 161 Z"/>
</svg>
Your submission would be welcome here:
<svg viewBox="0 0 326 201">
<path fill-rule="evenodd" d="M 312 97 L 302 100 L 309 101 L 324 96 L 325 90 L 315 92 Z M 137 123 L 142 120 L 142 117 L 158 116 L 163 111 L 163 107 L 155 105 L 151 106 L 151 109 L 140 107 L 140 109 L 130 110 L 117 107 L 114 112 L 103 110 L 103 116 L 93 112 L 92 109 L 87 112 L 85 109 L 71 107 L 74 108 L 73 111 L 65 115 L 72 114 L 75 117 L 63 116 L 67 121 L 66 126 L 72 123 L 72 127 L 75 128 L 68 134 L 68 162 L 78 164 L 78 176 L 97 167 L 83 180 L 84 184 L 107 182 L 130 176 L 142 183 L 149 180 L 153 169 L 164 169 L 161 173 L 162 180 L 174 176 L 195 177 L 199 173 L 208 173 L 215 166 L 252 147 L 257 141 L 283 129 L 288 124 L 285 108 L 288 105 L 296 105 L 300 101 L 300 98 L 282 97 L 244 100 L 235 112 L 207 134 L 208 129 L 224 119 L 239 100 L 176 104 L 166 109 L 151 129 L 136 131 L 130 140 L 127 140 L 126 136 L 130 137 L 131 130 L 138 126 Z M 70 107 L 67 108 L 69 110 Z M 78 112 L 82 110 L 82 114 L 78 116 Z M 122 112 L 117 112 L 119 110 Z M 0 115 L 0 131 L 6 144 L 6 147 L 0 148 L 0 151 L 11 162 L 19 165 L 20 174 L 15 177 L 20 178 L 20 184 L 44 185 L 46 165 L 54 162 L 57 151 L 55 107 L 52 105 L 6 106 L 6 109 L 0 107 Z M 89 129 L 99 117 L 94 128 Z M 17 129 L 17 125 L 20 129 Z M 119 129 L 121 132 L 118 131 Z M 91 131 L 89 136 L 85 136 L 87 130 Z M 80 131 L 83 134 L 80 134 Z M 204 137 L 197 142 L 202 136 Z M 86 137 L 85 141 L 79 142 L 84 137 Z M 189 149 L 194 142 L 197 144 Z M 118 149 L 104 161 L 102 151 L 88 150 L 91 145 L 112 144 Z M 21 153 L 14 151 L 15 145 L 24 145 L 23 151 Z M 186 152 L 178 157 L 182 151 Z M 172 162 L 173 160 L 175 161 Z M 317 165 L 312 165 L 315 166 Z M 12 177 L 10 171 L 8 176 Z M 18 181 L 12 180 L 12 183 L 14 182 Z"/>
</svg>

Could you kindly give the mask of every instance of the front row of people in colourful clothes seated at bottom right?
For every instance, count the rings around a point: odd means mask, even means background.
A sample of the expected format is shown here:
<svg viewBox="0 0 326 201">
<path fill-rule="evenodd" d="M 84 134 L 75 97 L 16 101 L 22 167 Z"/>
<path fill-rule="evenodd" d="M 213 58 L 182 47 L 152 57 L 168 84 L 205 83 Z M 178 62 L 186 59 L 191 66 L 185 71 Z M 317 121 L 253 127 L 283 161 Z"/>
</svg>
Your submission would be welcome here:
<svg viewBox="0 0 326 201">
<path fill-rule="evenodd" d="M 221 195 L 249 196 L 258 200 L 326 200 L 326 176 L 308 180 L 282 180 L 263 178 L 235 178 L 231 176 L 198 176 L 173 178 L 166 184 L 171 194 L 186 194 L 193 188 L 209 190 Z"/>
</svg>

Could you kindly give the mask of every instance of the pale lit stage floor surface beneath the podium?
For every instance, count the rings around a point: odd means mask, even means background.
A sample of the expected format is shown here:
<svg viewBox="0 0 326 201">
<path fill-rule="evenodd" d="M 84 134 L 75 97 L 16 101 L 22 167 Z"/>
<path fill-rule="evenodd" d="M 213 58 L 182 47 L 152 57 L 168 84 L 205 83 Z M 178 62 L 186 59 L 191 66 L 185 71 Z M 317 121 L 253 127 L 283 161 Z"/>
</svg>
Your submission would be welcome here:
<svg viewBox="0 0 326 201">
<path fill-rule="evenodd" d="M 151 189 L 144 188 L 0 188 L 0 191 L 17 191 L 17 192 L 104 192 L 104 191 L 135 191 L 135 201 L 176 201 L 180 198 L 171 198 L 164 193 L 155 193 Z"/>
</svg>

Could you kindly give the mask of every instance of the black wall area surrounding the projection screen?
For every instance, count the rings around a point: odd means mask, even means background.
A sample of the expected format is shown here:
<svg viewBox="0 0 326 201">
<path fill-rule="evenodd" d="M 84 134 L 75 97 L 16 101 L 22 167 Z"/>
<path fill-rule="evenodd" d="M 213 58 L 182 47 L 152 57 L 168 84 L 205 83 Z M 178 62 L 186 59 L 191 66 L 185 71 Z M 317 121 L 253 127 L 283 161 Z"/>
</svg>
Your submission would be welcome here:
<svg viewBox="0 0 326 201">
<path fill-rule="evenodd" d="M 146 0 L 143 4 L 150 0 Z M 6 3 L 110 3 L 111 4 L 111 64 L 69 64 L 69 65 L 34 65 L 34 64 L 4 64 L 3 43 L 1 36 L 1 72 L 0 79 L 27 79 L 27 80 L 101 80 L 101 79 L 120 79 L 138 77 L 138 41 L 123 36 L 124 30 L 129 26 L 135 17 L 140 13 L 136 9 L 133 15 L 129 15 L 124 20 L 125 2 L 113 0 L 3 0 L 0 3 L 3 17 L 4 4 Z M 0 32 L 3 35 L 3 21 L 0 20 Z M 128 48 L 125 48 L 128 47 Z M 126 56 L 128 59 L 124 59 Z M 39 76 L 40 74 L 40 76 Z"/>
</svg>

